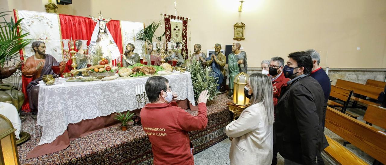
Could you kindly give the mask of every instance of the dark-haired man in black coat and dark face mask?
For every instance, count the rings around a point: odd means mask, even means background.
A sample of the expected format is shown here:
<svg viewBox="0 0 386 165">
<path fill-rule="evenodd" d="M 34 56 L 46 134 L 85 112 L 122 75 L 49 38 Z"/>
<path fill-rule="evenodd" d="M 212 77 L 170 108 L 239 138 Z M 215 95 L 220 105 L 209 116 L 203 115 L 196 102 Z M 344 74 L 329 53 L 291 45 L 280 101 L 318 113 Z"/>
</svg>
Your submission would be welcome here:
<svg viewBox="0 0 386 165">
<path fill-rule="evenodd" d="M 323 164 L 318 160 L 327 140 L 323 133 L 322 87 L 312 77 L 312 59 L 306 52 L 288 55 L 284 76 L 291 79 L 276 106 L 276 146 L 284 164 Z M 327 144 L 328 145 L 328 144 Z"/>
</svg>

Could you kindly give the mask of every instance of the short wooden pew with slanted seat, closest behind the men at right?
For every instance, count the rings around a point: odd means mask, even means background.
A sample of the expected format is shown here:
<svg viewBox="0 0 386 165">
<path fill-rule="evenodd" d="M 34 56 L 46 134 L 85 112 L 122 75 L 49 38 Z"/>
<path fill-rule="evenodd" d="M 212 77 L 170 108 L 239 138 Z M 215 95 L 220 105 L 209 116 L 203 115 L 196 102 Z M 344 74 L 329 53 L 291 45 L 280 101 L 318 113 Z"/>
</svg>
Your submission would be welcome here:
<svg viewBox="0 0 386 165">
<path fill-rule="evenodd" d="M 342 105 L 340 103 L 337 103 L 329 99 L 327 101 L 327 105 L 330 107 L 334 107 L 334 109 L 340 110 L 340 112 L 345 113 L 353 118 L 358 118 L 359 115 L 346 112 L 347 106 L 349 105 L 349 102 L 350 102 L 351 95 L 352 95 L 352 91 L 350 91 L 349 89 L 331 85 L 330 96 L 333 98 L 337 98 L 343 101 L 344 103 Z"/>
</svg>

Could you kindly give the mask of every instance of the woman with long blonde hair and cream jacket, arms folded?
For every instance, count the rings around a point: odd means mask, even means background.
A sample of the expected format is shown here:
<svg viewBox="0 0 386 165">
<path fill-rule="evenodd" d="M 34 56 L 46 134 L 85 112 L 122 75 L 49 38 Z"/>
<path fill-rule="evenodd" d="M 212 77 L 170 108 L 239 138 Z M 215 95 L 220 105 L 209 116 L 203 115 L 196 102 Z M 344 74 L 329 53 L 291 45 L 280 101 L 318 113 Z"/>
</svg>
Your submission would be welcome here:
<svg viewBox="0 0 386 165">
<path fill-rule="evenodd" d="M 251 74 L 244 88 L 251 100 L 240 117 L 225 128 L 233 138 L 230 145 L 231 165 L 270 165 L 273 149 L 273 94 L 268 76 Z"/>
</svg>

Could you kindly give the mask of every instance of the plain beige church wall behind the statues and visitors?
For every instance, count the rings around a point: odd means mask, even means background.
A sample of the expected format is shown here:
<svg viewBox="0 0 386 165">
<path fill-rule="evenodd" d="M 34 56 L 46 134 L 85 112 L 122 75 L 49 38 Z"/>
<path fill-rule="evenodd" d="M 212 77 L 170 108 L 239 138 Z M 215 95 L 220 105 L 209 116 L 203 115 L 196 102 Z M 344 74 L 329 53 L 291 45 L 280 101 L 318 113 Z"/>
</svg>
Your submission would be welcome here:
<svg viewBox="0 0 386 165">
<path fill-rule="evenodd" d="M 30 1 L 13 2 L 25 3 L 18 9 L 41 11 Z M 160 13 L 174 15 L 174 0 L 73 0 L 58 6 L 63 14 L 88 17 L 102 10 L 105 17 L 145 25 L 161 20 Z M 386 0 L 246 0 L 241 13 L 238 6 L 237 0 L 177 0 L 181 16 L 191 18 L 190 50 L 195 43 L 204 52 L 217 42 L 225 48 L 235 42 L 233 25 L 243 22 L 240 44 L 250 67 L 273 56 L 287 59 L 290 52 L 316 49 L 323 67 L 386 68 Z"/>
</svg>

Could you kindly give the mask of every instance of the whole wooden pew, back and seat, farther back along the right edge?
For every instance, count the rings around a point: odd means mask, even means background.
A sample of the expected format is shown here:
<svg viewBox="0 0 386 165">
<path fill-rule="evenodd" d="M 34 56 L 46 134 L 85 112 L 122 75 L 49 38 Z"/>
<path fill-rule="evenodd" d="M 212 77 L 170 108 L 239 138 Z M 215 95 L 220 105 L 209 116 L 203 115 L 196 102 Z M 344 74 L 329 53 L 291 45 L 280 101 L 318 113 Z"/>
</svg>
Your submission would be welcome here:
<svg viewBox="0 0 386 165">
<path fill-rule="evenodd" d="M 354 82 L 345 81 L 342 79 L 337 79 L 337 83 L 335 84 L 335 86 L 339 86 L 342 88 L 352 90 L 356 94 L 361 94 L 363 96 L 367 96 L 367 97 L 372 98 L 372 99 L 378 99 L 379 94 L 381 92 L 383 92 L 383 90 L 384 90 L 383 88 L 377 88 L 377 87 L 368 86 L 365 84 L 354 83 Z M 365 104 L 366 106 L 371 105 L 371 104 L 372 105 L 380 105 L 380 104 L 377 104 L 377 103 L 374 103 L 371 101 L 367 101 L 365 99 L 357 98 L 354 96 L 351 96 L 351 100 Z"/>
</svg>

